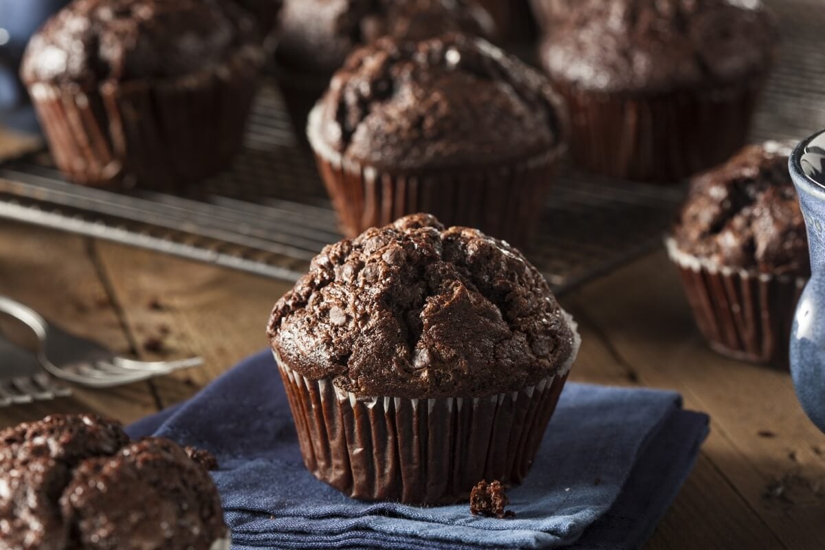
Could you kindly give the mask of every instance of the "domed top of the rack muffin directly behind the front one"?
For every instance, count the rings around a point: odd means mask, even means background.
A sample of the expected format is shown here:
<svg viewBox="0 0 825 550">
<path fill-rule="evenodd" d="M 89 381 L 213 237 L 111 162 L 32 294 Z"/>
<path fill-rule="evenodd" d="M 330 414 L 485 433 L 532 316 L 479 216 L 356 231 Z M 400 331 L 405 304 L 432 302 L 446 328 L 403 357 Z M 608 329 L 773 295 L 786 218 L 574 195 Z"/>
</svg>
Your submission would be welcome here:
<svg viewBox="0 0 825 550">
<path fill-rule="evenodd" d="M 480 38 L 389 38 L 356 50 L 309 121 L 314 148 L 391 170 L 464 168 L 558 150 L 549 81 Z"/>
</svg>

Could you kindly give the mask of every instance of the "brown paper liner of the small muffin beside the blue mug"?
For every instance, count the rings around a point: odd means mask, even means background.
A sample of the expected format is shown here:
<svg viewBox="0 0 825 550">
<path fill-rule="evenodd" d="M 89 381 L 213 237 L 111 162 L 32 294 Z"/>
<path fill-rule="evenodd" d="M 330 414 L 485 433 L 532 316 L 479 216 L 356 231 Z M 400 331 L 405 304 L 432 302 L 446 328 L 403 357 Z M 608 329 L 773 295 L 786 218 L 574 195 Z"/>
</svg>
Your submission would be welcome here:
<svg viewBox="0 0 825 550">
<path fill-rule="evenodd" d="M 673 238 L 666 245 L 710 347 L 787 369 L 794 312 L 807 279 L 717 266 L 680 251 Z"/>
</svg>

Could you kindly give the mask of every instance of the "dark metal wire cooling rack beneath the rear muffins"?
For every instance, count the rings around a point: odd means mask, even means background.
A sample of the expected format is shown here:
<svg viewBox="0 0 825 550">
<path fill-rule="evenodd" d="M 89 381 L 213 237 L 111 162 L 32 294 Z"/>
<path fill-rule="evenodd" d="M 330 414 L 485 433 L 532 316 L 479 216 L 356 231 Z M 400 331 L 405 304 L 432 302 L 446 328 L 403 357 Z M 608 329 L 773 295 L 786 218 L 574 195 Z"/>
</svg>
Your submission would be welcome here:
<svg viewBox="0 0 825 550">
<path fill-rule="evenodd" d="M 825 127 L 821 2 L 770 2 L 785 44 L 753 139 L 801 139 Z M 526 254 L 563 292 L 658 246 L 681 196 L 680 187 L 568 171 Z M 184 195 L 74 186 L 41 152 L 0 165 L 0 217 L 285 280 L 341 238 L 314 161 L 296 142 L 271 82 L 233 167 Z"/>
</svg>

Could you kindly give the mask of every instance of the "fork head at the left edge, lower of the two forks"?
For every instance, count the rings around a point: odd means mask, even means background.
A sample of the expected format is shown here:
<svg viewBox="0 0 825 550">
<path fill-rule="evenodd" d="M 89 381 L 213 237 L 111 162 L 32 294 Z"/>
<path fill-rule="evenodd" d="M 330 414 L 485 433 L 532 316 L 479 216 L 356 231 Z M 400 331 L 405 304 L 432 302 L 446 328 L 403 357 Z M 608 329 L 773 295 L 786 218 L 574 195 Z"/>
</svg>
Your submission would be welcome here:
<svg viewBox="0 0 825 550">
<path fill-rule="evenodd" d="M 0 407 L 66 397 L 72 390 L 56 383 L 34 355 L 0 336 Z"/>
</svg>

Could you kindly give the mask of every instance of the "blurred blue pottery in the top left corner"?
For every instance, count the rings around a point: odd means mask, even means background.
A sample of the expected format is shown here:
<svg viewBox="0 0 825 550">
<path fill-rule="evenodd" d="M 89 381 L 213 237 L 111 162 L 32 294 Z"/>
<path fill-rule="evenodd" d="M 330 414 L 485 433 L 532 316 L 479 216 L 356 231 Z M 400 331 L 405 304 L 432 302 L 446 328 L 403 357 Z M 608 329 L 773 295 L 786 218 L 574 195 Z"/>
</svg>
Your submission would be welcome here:
<svg viewBox="0 0 825 550">
<path fill-rule="evenodd" d="M 34 131 L 35 115 L 17 72 L 31 35 L 68 0 L 0 0 L 0 124 Z"/>
</svg>

